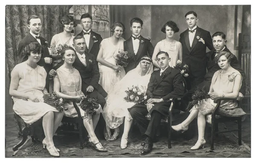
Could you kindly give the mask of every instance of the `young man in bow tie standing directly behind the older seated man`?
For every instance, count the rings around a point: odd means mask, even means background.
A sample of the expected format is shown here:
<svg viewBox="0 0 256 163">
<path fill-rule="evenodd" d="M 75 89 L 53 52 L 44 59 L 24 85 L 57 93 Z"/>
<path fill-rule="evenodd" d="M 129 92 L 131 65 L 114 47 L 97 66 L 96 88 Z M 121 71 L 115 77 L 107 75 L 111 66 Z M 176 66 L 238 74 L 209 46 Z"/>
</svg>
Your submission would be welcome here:
<svg viewBox="0 0 256 163">
<path fill-rule="evenodd" d="M 85 51 L 94 55 L 96 59 L 99 53 L 99 45 L 102 42 L 102 37 L 100 34 L 97 34 L 91 30 L 92 28 L 92 16 L 90 14 L 85 13 L 81 16 L 81 26 L 83 30 L 78 34 L 85 39 L 86 48 Z M 98 67 L 98 62 L 96 62 Z M 99 70 L 99 68 L 98 68 Z"/>
</svg>

